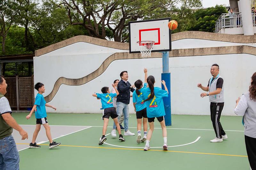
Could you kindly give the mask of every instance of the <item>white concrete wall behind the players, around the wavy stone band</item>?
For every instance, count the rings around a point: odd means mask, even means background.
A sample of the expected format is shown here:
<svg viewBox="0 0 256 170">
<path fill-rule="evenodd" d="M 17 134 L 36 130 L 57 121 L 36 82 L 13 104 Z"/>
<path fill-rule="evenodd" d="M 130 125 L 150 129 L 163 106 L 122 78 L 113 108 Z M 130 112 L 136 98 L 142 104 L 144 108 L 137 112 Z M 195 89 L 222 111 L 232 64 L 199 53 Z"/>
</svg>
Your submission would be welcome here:
<svg viewBox="0 0 256 170">
<path fill-rule="evenodd" d="M 69 46 L 65 48 L 68 50 Z M 76 47 L 73 46 L 72 49 L 69 49 L 73 52 L 70 52 L 70 55 L 65 55 L 65 51 L 63 52 L 61 49 L 59 49 L 60 55 L 57 53 L 52 56 L 46 54 L 36 57 L 34 60 L 35 83 L 44 83 L 46 88 L 44 96 L 52 91 L 53 85 L 59 77 L 84 77 L 96 70 L 108 56 L 114 53 L 113 50 L 109 51 L 111 53 L 104 54 L 75 55 Z M 254 55 L 171 57 L 172 114 L 210 114 L 209 98 L 200 98 L 202 90 L 197 87 L 197 84 L 202 83 L 204 86 L 208 84 L 211 78 L 210 68 L 213 63 L 220 65 L 220 75 L 224 78 L 225 107 L 223 115 L 234 115 L 235 100 L 248 90 L 250 78 L 256 71 Z M 156 78 L 156 86 L 160 86 L 162 58 L 116 60 L 108 66 L 103 74 L 84 85 L 61 85 L 49 104 L 57 107 L 58 113 L 102 113 L 100 100 L 92 97 L 92 93 L 100 92 L 103 86 L 112 88 L 111 84 L 115 79 L 120 79 L 119 74 L 123 70 L 128 71 L 131 84 L 137 79 L 143 80 L 144 67 L 148 68 L 148 75 L 153 75 Z M 53 112 L 53 110 L 47 108 L 47 112 Z M 130 113 L 134 113 L 132 102 Z"/>
</svg>

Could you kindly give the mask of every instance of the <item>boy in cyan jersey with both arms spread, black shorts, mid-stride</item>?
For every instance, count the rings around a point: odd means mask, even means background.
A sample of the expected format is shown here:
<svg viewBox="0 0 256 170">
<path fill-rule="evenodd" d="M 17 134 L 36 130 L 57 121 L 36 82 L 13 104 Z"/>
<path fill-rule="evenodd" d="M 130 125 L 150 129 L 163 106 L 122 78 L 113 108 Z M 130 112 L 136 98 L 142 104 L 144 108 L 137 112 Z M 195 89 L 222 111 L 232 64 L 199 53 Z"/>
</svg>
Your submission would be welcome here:
<svg viewBox="0 0 256 170">
<path fill-rule="evenodd" d="M 113 97 L 116 97 L 117 95 L 119 95 L 119 92 L 117 91 L 116 86 L 114 84 L 112 84 L 112 86 L 115 88 L 116 93 L 110 93 L 108 87 L 102 87 L 101 89 L 102 93 L 92 94 L 92 96 L 97 97 L 98 99 L 101 100 L 101 104 L 102 104 L 101 109 L 104 109 L 104 115 L 102 117 L 104 120 L 104 125 L 102 129 L 102 137 L 100 138 L 99 145 L 102 145 L 107 140 L 105 135 L 108 127 L 109 117 L 111 117 L 116 124 L 116 128 L 119 133 L 119 140 L 125 141 L 123 135 L 121 134 L 120 125 L 117 120 L 116 108 L 113 106 Z"/>
</svg>

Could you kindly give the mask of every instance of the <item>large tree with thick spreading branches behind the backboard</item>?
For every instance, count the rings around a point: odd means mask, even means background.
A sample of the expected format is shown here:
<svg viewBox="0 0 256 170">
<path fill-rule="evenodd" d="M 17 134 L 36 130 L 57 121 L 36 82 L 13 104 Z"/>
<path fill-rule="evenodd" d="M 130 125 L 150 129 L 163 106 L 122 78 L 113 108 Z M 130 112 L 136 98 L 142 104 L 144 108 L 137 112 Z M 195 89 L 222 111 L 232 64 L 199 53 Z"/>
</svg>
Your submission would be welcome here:
<svg viewBox="0 0 256 170">
<path fill-rule="evenodd" d="M 57 0 L 55 3 L 67 10 L 71 25 L 83 26 L 90 36 L 101 39 L 106 39 L 108 28 L 118 42 L 127 41 L 129 21 L 159 18 L 175 5 L 183 4 L 184 9 L 196 3 L 201 5 L 200 0 Z"/>
</svg>

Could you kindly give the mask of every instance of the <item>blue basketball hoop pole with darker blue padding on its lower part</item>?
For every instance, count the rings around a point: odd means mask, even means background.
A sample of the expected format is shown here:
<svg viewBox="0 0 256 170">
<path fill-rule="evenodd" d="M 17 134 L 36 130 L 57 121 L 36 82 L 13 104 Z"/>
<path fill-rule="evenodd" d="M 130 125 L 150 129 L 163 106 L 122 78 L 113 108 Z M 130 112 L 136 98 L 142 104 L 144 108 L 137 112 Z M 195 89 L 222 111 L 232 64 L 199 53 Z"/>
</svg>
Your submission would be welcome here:
<svg viewBox="0 0 256 170">
<path fill-rule="evenodd" d="M 168 89 L 168 97 L 164 97 L 164 111 L 165 111 L 165 125 L 172 126 L 172 110 L 171 110 L 171 73 L 169 71 L 169 51 L 161 52 L 163 54 L 163 73 L 161 74 L 162 80 L 165 81 L 166 87 Z M 162 84 L 162 89 L 164 90 L 164 85 Z"/>
</svg>

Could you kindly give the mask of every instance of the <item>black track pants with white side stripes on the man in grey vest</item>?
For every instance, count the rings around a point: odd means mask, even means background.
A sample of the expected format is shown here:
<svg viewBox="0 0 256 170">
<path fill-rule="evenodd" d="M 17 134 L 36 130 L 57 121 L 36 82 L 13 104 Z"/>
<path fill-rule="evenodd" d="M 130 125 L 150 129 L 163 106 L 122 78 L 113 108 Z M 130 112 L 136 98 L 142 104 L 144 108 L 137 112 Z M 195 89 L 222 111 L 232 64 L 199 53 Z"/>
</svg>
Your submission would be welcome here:
<svg viewBox="0 0 256 170">
<path fill-rule="evenodd" d="M 220 115 L 223 107 L 224 106 L 210 106 L 212 125 L 217 138 L 222 138 L 222 136 L 226 135 L 220 123 Z"/>
</svg>

